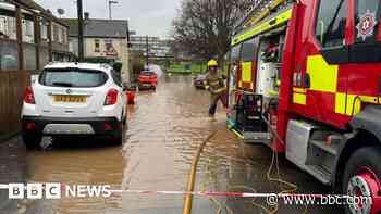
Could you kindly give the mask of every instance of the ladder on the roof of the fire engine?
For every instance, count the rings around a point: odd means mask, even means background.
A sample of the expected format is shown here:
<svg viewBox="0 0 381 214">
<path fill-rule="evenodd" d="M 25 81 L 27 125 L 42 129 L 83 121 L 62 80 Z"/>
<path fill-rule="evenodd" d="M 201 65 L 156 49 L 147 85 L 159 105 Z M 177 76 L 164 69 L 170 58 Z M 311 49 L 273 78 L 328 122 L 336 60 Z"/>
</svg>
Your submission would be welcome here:
<svg viewBox="0 0 381 214">
<path fill-rule="evenodd" d="M 254 7 L 249 16 L 246 18 L 247 25 L 255 25 L 267 17 L 272 11 L 291 3 L 292 0 L 259 0 L 259 3 Z"/>
</svg>

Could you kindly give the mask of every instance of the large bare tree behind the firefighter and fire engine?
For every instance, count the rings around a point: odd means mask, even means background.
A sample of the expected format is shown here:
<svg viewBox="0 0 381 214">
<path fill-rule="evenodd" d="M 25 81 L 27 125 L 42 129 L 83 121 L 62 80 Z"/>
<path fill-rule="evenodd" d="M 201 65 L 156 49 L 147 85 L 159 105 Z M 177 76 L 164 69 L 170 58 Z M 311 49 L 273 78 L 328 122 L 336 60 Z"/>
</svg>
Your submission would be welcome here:
<svg viewBox="0 0 381 214">
<path fill-rule="evenodd" d="M 245 0 L 183 0 L 180 15 L 173 21 L 176 49 L 197 59 L 217 58 L 222 62 L 245 3 Z"/>
</svg>

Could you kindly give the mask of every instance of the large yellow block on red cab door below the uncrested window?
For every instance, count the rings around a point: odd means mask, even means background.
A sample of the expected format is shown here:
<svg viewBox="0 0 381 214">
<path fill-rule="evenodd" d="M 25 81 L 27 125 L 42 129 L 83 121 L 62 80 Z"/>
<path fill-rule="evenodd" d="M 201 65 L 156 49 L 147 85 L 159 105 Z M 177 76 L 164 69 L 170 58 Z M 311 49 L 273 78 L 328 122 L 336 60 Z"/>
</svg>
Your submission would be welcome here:
<svg viewBox="0 0 381 214">
<path fill-rule="evenodd" d="M 322 55 L 307 59 L 307 73 L 310 78 L 310 90 L 336 92 L 339 65 L 330 65 Z"/>
</svg>

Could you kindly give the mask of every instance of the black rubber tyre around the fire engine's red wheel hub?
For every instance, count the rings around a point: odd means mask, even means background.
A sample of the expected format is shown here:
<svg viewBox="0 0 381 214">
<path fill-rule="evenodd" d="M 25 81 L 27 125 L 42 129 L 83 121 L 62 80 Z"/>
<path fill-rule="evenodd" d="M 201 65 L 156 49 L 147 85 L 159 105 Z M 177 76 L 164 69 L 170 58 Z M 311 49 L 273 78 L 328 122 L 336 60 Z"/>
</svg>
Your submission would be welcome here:
<svg viewBox="0 0 381 214">
<path fill-rule="evenodd" d="M 343 189 L 344 196 L 347 196 L 348 186 L 352 178 L 360 175 L 362 168 L 369 169 L 374 176 L 376 180 L 381 178 L 381 153 L 380 147 L 366 147 L 354 152 L 349 158 L 343 175 Z M 352 214 L 348 205 L 344 206 L 346 214 Z"/>
</svg>

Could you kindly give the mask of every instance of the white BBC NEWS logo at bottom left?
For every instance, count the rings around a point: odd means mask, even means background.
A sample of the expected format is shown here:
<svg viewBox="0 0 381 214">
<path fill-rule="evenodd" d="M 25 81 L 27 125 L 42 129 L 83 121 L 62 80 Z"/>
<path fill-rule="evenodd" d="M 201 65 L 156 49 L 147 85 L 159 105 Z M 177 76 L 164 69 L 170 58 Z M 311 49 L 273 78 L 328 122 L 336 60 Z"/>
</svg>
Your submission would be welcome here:
<svg viewBox="0 0 381 214">
<path fill-rule="evenodd" d="M 9 184 L 9 199 L 109 198 L 109 185 Z"/>
</svg>

